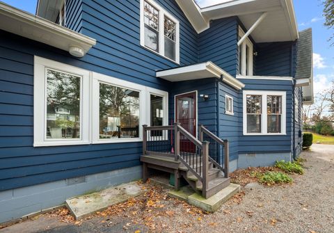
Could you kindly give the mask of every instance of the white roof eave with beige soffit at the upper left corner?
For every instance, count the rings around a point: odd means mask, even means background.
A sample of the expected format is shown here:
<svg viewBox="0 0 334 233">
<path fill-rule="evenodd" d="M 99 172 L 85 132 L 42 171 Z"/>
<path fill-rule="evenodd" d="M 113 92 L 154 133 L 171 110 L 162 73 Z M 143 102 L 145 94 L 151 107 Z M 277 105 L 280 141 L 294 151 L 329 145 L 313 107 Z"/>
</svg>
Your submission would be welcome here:
<svg viewBox="0 0 334 233">
<path fill-rule="evenodd" d="M 70 47 L 80 47 L 86 54 L 96 45 L 96 40 L 93 38 L 2 2 L 0 2 L 0 29 L 65 51 L 69 51 Z"/>
</svg>

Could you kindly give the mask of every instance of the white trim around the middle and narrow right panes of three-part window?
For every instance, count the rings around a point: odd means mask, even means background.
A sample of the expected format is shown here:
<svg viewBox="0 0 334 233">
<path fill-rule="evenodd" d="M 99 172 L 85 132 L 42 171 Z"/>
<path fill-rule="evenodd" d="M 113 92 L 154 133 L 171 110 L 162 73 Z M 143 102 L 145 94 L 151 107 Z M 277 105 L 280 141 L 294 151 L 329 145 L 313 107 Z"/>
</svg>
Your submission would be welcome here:
<svg viewBox="0 0 334 233">
<path fill-rule="evenodd" d="M 140 84 L 122 79 L 109 77 L 104 74 L 92 72 L 92 138 L 93 144 L 102 143 L 129 143 L 143 140 L 143 124 L 150 125 L 150 94 L 164 97 L 164 125 L 168 124 L 168 93 L 163 90 L 149 88 Z M 139 92 L 139 137 L 138 138 L 100 138 L 100 83 L 106 83 L 121 88 L 129 88 Z"/>
</svg>

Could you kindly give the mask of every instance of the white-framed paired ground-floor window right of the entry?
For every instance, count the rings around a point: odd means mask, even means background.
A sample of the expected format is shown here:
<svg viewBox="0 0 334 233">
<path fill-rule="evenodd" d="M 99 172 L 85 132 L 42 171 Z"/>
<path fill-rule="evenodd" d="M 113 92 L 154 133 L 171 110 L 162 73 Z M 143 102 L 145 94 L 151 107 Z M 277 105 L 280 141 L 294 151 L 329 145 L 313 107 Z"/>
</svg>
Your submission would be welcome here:
<svg viewBox="0 0 334 233">
<path fill-rule="evenodd" d="M 286 93 L 244 90 L 244 135 L 285 134 Z"/>
</svg>

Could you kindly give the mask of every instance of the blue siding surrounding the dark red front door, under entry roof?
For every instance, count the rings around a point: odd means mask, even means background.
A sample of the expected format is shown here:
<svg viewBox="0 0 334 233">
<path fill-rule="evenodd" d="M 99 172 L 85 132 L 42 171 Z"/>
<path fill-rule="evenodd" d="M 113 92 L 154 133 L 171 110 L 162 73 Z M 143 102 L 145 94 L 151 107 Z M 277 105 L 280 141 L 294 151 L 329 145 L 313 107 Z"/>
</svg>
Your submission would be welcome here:
<svg viewBox="0 0 334 233">
<path fill-rule="evenodd" d="M 197 90 L 198 94 L 198 124 L 203 124 L 207 129 L 214 134 L 217 133 L 216 120 L 217 120 L 217 89 L 216 81 L 212 79 L 198 79 L 195 81 L 181 81 L 177 85 L 173 85 L 170 90 L 169 97 L 169 115 L 170 122 L 175 120 L 175 95 L 182 93 L 189 93 Z M 204 101 L 200 95 L 209 95 L 209 99 Z"/>
</svg>

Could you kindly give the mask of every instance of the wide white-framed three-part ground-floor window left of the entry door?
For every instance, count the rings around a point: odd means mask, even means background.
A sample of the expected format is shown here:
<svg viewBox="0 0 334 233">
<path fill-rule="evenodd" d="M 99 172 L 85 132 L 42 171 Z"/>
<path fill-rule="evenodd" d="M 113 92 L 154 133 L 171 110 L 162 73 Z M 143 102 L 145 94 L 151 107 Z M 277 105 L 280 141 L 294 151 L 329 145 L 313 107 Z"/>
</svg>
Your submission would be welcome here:
<svg viewBox="0 0 334 233">
<path fill-rule="evenodd" d="M 34 61 L 35 147 L 138 142 L 143 124 L 168 124 L 166 91 L 38 56 Z"/>
</svg>

